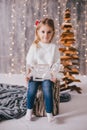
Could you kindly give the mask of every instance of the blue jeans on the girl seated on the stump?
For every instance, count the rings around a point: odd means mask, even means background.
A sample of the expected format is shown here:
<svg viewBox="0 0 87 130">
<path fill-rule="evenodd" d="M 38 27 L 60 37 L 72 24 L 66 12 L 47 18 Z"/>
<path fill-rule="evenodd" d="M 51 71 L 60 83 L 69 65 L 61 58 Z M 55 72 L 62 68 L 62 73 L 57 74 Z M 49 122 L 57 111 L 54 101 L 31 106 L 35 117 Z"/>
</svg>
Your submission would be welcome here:
<svg viewBox="0 0 87 130">
<path fill-rule="evenodd" d="M 27 92 L 27 108 L 28 109 L 33 108 L 34 99 L 39 85 L 42 86 L 46 112 L 52 113 L 53 112 L 53 92 L 52 92 L 53 82 L 50 80 L 33 81 L 31 79 L 29 81 L 28 92 Z"/>
</svg>

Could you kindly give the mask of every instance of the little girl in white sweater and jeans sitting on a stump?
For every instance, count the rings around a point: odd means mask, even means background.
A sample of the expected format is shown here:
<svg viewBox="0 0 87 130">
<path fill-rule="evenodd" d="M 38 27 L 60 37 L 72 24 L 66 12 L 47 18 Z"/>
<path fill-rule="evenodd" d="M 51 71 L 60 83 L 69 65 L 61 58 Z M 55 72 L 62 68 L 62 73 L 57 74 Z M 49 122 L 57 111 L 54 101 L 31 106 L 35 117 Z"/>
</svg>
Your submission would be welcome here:
<svg viewBox="0 0 87 130">
<path fill-rule="evenodd" d="M 52 43 L 52 39 L 55 34 L 54 22 L 52 19 L 45 18 L 36 23 L 35 40 L 30 46 L 29 52 L 26 57 L 28 92 L 27 92 L 27 113 L 26 118 L 32 119 L 32 109 L 34 105 L 35 95 L 37 93 L 38 86 L 42 86 L 45 109 L 47 113 L 48 122 L 52 121 L 53 115 L 53 95 L 52 87 L 57 78 L 55 73 L 51 73 L 50 79 L 44 79 L 42 81 L 34 81 L 31 76 L 31 67 L 37 64 L 52 66 L 57 63 L 57 67 L 60 64 L 60 55 L 56 44 Z M 58 72 L 58 70 L 56 70 Z"/>
</svg>

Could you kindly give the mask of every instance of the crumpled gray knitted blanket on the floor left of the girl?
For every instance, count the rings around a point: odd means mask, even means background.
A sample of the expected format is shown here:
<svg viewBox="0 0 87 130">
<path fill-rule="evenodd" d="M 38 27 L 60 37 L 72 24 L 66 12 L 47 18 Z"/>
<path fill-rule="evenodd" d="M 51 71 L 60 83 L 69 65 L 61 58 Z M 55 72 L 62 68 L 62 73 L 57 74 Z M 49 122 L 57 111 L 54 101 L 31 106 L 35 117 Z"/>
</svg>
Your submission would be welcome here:
<svg viewBox="0 0 87 130">
<path fill-rule="evenodd" d="M 24 86 L 0 84 L 0 121 L 25 115 L 26 91 Z"/>
</svg>

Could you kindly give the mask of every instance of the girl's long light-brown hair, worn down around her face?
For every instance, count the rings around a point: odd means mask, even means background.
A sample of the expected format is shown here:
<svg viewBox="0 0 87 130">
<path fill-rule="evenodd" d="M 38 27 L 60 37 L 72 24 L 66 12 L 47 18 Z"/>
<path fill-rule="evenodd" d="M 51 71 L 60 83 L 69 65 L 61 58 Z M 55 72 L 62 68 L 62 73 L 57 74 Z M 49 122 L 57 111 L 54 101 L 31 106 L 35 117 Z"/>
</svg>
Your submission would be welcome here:
<svg viewBox="0 0 87 130">
<path fill-rule="evenodd" d="M 44 18 L 43 20 L 39 21 L 39 23 L 36 25 L 36 30 L 35 30 L 35 40 L 33 43 L 35 43 L 38 46 L 38 42 L 40 41 L 39 36 L 38 36 L 38 30 L 40 29 L 40 27 L 42 25 L 48 25 L 49 27 L 51 27 L 53 29 L 53 36 L 51 38 L 51 40 L 54 37 L 55 34 L 55 27 L 54 27 L 54 21 L 50 18 Z"/>
</svg>

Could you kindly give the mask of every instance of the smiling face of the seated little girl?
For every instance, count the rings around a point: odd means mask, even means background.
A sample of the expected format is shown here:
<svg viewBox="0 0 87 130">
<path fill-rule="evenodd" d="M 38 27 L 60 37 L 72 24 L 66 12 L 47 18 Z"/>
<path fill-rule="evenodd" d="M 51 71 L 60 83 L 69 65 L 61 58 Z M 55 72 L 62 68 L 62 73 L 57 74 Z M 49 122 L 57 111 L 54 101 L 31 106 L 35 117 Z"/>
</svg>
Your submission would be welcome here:
<svg viewBox="0 0 87 130">
<path fill-rule="evenodd" d="M 48 25 L 42 25 L 38 30 L 38 36 L 41 42 L 50 43 L 53 38 L 53 29 Z"/>
</svg>

